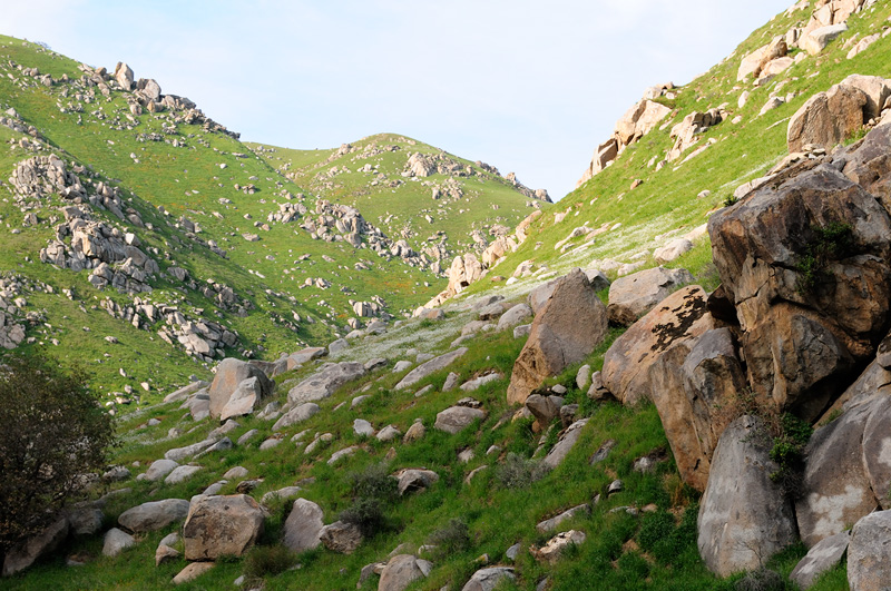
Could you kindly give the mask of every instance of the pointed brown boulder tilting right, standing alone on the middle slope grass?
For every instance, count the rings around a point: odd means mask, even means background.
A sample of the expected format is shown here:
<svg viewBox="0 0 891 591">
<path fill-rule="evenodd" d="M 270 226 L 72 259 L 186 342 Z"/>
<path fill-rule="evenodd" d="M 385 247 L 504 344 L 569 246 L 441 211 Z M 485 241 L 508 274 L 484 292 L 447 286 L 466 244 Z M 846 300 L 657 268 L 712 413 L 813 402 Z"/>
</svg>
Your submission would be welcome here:
<svg viewBox="0 0 891 591">
<path fill-rule="evenodd" d="M 607 332 L 606 306 L 588 277 L 575 269 L 554 289 L 513 364 L 508 402 L 522 404 L 545 378 L 588 356 Z"/>
</svg>

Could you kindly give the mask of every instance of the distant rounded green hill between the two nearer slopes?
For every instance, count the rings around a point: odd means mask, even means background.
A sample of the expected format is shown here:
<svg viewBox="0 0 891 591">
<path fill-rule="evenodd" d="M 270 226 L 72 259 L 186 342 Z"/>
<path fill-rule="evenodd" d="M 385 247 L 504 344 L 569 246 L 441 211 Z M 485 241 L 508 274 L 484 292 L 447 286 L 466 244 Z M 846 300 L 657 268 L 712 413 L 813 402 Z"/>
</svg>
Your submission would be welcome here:
<svg viewBox="0 0 891 591">
<path fill-rule="evenodd" d="M 532 208 L 550 203 L 513 174 L 469 161 L 418 140 L 380 134 L 333 150 L 249 145 L 295 184 L 356 207 L 389 236 L 442 260 L 482 250 Z"/>
</svg>

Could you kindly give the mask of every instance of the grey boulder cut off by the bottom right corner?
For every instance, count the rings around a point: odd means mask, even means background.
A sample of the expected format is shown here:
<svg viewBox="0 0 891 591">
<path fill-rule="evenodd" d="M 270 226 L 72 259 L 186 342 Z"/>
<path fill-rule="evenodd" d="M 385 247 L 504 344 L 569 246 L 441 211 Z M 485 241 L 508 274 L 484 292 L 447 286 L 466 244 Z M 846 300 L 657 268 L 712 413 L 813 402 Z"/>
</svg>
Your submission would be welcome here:
<svg viewBox="0 0 891 591">
<path fill-rule="evenodd" d="M 854 524 L 848 548 L 851 591 L 884 591 L 891 581 L 891 511 L 866 515 Z"/>
</svg>

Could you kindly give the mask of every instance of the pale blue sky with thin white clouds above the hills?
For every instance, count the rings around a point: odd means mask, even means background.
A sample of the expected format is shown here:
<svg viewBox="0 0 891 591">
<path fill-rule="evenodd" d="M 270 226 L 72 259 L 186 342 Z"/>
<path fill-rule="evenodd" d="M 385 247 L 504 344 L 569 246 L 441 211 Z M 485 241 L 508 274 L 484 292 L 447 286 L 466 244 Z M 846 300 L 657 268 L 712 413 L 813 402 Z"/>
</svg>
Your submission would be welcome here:
<svg viewBox="0 0 891 591">
<path fill-rule="evenodd" d="M 570 191 L 653 85 L 683 85 L 792 0 L 4 2 L 0 32 L 127 62 L 242 139 L 405 135 Z"/>
</svg>

